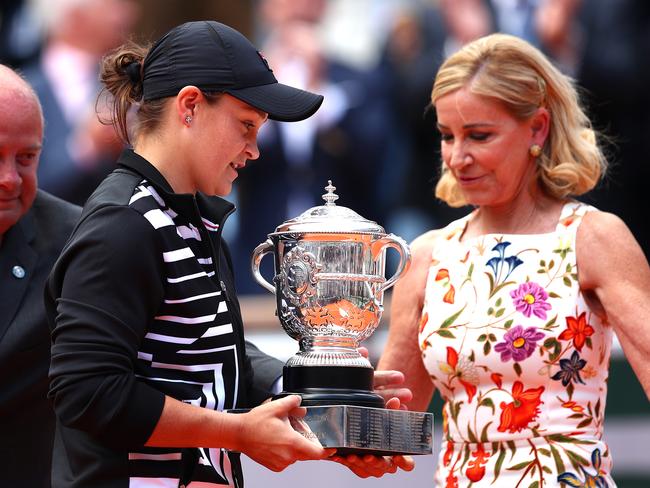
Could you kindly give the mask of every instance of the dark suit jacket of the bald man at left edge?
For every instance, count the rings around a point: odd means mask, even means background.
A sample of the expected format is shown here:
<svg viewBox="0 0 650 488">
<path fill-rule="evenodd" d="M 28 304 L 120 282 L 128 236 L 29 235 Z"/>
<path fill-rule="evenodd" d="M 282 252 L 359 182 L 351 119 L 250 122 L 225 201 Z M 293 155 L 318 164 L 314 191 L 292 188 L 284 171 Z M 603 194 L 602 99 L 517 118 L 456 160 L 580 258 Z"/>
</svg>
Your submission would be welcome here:
<svg viewBox="0 0 650 488">
<path fill-rule="evenodd" d="M 39 191 L 0 244 L 0 486 L 50 486 L 54 416 L 43 289 L 81 213 Z M 23 278 L 12 273 L 25 270 Z"/>
</svg>

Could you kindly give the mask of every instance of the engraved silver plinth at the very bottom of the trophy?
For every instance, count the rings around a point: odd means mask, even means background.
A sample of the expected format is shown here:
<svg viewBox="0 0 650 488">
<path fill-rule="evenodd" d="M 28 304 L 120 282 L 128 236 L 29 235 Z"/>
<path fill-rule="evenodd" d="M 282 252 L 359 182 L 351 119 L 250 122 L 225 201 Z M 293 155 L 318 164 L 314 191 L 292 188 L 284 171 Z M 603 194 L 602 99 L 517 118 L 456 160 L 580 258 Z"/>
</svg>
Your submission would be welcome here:
<svg viewBox="0 0 650 488">
<path fill-rule="evenodd" d="M 294 430 L 337 454 L 426 455 L 433 452 L 433 414 L 351 405 L 307 407 Z"/>
</svg>

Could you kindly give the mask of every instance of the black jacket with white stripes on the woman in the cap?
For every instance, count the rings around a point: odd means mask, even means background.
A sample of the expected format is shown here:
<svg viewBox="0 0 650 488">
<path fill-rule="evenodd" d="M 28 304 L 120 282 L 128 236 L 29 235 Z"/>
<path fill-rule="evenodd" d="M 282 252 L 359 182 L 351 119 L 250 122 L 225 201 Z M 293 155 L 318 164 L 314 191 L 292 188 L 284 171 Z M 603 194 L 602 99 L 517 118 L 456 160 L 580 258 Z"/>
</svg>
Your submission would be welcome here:
<svg viewBox="0 0 650 488">
<path fill-rule="evenodd" d="M 221 238 L 234 206 L 175 194 L 133 151 L 118 163 L 47 284 L 53 486 L 236 486 L 239 460 L 223 450 L 144 447 L 165 395 L 214 410 L 268 396 L 271 381 L 253 381 Z"/>
</svg>

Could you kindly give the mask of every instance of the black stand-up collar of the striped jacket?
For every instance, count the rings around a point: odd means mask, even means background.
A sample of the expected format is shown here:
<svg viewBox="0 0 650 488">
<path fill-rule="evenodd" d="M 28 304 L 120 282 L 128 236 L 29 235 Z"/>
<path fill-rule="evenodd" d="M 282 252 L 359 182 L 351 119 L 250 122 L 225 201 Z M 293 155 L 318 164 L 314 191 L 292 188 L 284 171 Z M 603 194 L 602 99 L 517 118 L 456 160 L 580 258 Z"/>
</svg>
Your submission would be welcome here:
<svg viewBox="0 0 650 488">
<path fill-rule="evenodd" d="M 125 149 L 117 160 L 118 166 L 134 171 L 146 179 L 160 193 L 167 205 L 177 213 L 190 217 L 195 225 L 202 225 L 201 217 L 220 226 L 235 210 L 235 206 L 217 196 L 204 195 L 197 192 L 175 193 L 169 182 L 158 169 L 132 149 Z"/>
</svg>

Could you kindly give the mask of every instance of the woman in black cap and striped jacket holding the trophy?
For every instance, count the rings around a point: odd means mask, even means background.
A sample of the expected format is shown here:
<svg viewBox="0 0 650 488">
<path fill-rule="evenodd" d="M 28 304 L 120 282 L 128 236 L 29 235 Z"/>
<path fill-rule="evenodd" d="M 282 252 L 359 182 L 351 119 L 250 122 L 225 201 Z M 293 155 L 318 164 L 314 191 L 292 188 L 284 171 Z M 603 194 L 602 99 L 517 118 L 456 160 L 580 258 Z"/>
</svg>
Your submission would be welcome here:
<svg viewBox="0 0 650 488">
<path fill-rule="evenodd" d="M 273 471 L 333 455 L 291 428 L 300 397 L 265 402 L 269 372 L 256 369 L 277 362 L 255 364 L 244 346 L 221 234 L 234 211 L 221 197 L 258 158 L 260 128 L 311 116 L 322 96 L 278 83 L 214 21 L 124 45 L 101 79 L 133 148 L 86 202 L 47 284 L 54 486 L 237 487 L 239 453 Z M 226 412 L 237 408 L 251 410 Z M 413 468 L 400 456 L 341 462 L 360 476 Z"/>
</svg>

